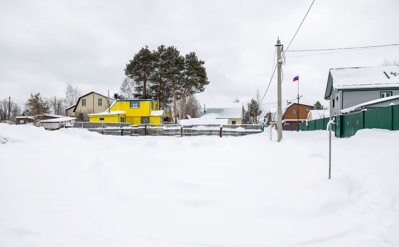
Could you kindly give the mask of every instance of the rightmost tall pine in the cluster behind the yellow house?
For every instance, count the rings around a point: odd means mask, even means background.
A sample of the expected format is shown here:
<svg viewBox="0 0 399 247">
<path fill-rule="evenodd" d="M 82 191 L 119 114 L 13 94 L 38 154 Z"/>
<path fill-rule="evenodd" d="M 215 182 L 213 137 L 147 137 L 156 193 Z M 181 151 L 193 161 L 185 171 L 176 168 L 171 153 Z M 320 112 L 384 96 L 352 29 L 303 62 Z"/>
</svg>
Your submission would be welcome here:
<svg viewBox="0 0 399 247">
<path fill-rule="evenodd" d="M 198 60 L 195 52 L 188 53 L 184 58 L 183 71 L 183 116 L 185 114 L 184 105 L 186 96 L 203 92 L 205 86 L 209 84 L 206 69 L 203 67 L 204 61 Z"/>
</svg>

